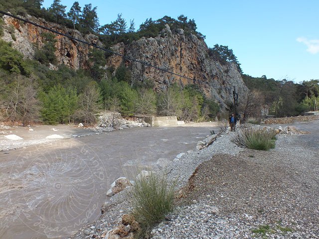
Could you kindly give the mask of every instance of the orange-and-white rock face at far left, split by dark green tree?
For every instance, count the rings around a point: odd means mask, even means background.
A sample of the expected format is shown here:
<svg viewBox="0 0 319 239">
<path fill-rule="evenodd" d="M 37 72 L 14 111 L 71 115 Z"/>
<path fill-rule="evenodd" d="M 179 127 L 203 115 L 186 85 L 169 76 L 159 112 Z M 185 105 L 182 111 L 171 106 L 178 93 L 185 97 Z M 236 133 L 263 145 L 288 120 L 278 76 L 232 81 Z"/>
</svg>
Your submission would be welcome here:
<svg viewBox="0 0 319 239">
<path fill-rule="evenodd" d="M 23 17 L 23 18 L 26 18 L 27 20 L 35 22 L 39 25 L 52 28 L 64 34 L 71 35 L 74 38 L 87 41 L 92 44 L 100 45 L 98 37 L 93 34 L 82 36 L 78 30 L 69 29 L 52 22 L 47 22 L 42 18 L 36 18 L 30 15 L 27 15 L 26 17 Z M 42 33 L 44 32 L 47 33 L 49 31 L 42 29 L 40 27 L 31 25 L 29 23 L 18 21 L 17 19 L 14 19 L 6 15 L 4 15 L 2 19 L 3 19 L 2 39 L 7 42 L 11 42 L 12 47 L 18 50 L 19 52 L 21 52 L 25 58 L 32 59 L 34 56 L 35 50 L 37 48 L 41 48 L 44 44 L 44 37 Z M 12 32 L 12 27 L 14 32 Z M 12 35 L 14 35 L 13 38 L 12 38 Z M 89 67 L 87 63 L 87 59 L 88 59 L 90 46 L 75 40 L 71 40 L 70 38 L 67 38 L 61 35 L 56 35 L 55 39 L 57 40 L 55 44 L 55 47 L 56 47 L 55 55 L 56 55 L 58 64 L 63 63 L 64 65 L 73 69 Z"/>
</svg>

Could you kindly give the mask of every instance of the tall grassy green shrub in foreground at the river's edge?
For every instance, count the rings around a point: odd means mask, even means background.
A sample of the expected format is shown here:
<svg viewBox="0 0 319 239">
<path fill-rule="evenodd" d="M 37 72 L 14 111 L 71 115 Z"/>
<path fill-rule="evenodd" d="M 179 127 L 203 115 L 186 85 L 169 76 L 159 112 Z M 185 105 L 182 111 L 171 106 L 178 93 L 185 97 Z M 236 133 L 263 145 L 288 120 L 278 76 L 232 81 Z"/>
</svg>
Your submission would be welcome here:
<svg viewBox="0 0 319 239">
<path fill-rule="evenodd" d="M 151 173 L 135 181 L 131 196 L 133 215 L 142 229 L 137 238 L 148 238 L 152 228 L 173 209 L 174 184 L 168 185 L 164 174 Z"/>
</svg>

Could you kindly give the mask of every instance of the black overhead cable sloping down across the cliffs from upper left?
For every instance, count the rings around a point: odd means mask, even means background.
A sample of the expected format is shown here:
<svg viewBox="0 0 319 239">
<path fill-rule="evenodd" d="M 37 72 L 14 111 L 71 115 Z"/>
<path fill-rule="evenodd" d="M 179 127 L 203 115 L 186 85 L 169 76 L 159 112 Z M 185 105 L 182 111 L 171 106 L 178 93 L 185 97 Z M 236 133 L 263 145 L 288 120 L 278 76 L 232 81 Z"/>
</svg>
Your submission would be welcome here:
<svg viewBox="0 0 319 239">
<path fill-rule="evenodd" d="M 21 18 L 21 17 L 15 16 L 15 15 L 12 15 L 12 14 L 7 13 L 7 12 L 5 12 L 5 11 L 1 11 L 1 10 L 0 10 L 0 13 L 2 13 L 2 14 L 4 14 L 4 15 L 7 15 L 7 16 L 10 16 L 10 17 L 13 17 L 13 18 L 15 18 L 15 19 L 18 19 L 18 20 L 20 20 L 20 21 L 24 21 L 24 22 L 29 23 L 29 24 L 31 24 L 31 25 L 34 25 L 34 26 L 43 28 L 43 29 L 45 29 L 45 30 L 54 32 L 54 33 L 56 33 L 56 34 L 59 34 L 59 35 L 68 37 L 68 38 L 70 38 L 70 39 L 72 39 L 72 40 L 82 42 L 82 43 L 84 43 L 84 44 L 86 44 L 86 45 L 96 47 L 96 48 L 98 48 L 98 49 L 100 49 L 100 50 L 103 50 L 103 51 L 106 51 L 106 52 L 109 52 L 109 53 L 112 53 L 112 54 L 121 56 L 121 57 L 123 57 L 123 58 L 125 58 L 125 59 L 127 59 L 127 60 L 139 62 L 139 63 L 141 63 L 141 64 L 143 64 L 143 65 L 146 65 L 146 66 L 149 66 L 149 67 L 153 67 L 153 68 L 158 69 L 158 70 L 160 70 L 160 71 L 167 72 L 167 73 L 169 73 L 169 74 L 172 74 L 172 75 L 175 75 L 175 76 L 179 76 L 179 77 L 184 78 L 184 79 L 187 79 L 187 80 L 194 80 L 194 79 L 192 79 L 192 78 L 189 78 L 189 77 L 186 77 L 186 76 L 182 76 L 182 75 L 176 74 L 176 73 L 174 73 L 174 72 L 167 71 L 167 70 L 165 70 L 165 69 L 163 69 L 163 68 L 154 66 L 154 65 L 152 65 L 152 64 L 150 64 L 150 63 L 147 63 L 147 62 L 144 62 L 144 61 L 141 61 L 141 60 L 138 60 L 138 59 L 129 57 L 129 56 L 122 55 L 122 54 L 120 54 L 120 53 L 117 53 L 117 52 L 114 52 L 114 51 L 105 49 L 105 48 L 103 48 L 103 47 L 99 47 L 99 46 L 97 46 L 97 45 L 95 45 L 95 44 L 92 44 L 92 43 L 90 43 L 90 42 L 80 40 L 80 39 L 75 38 L 75 37 L 73 37 L 73 36 L 70 36 L 70 35 L 68 35 L 68 34 L 64 34 L 64 33 L 62 33 L 62 32 L 59 32 L 59 31 L 53 30 L 53 29 L 51 29 L 51 28 L 48 28 L 48 27 L 46 27 L 46 26 L 39 25 L 39 24 L 37 24 L 37 23 L 34 23 L 34 22 L 32 22 L 32 21 L 23 19 L 23 18 Z"/>
</svg>

